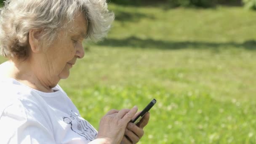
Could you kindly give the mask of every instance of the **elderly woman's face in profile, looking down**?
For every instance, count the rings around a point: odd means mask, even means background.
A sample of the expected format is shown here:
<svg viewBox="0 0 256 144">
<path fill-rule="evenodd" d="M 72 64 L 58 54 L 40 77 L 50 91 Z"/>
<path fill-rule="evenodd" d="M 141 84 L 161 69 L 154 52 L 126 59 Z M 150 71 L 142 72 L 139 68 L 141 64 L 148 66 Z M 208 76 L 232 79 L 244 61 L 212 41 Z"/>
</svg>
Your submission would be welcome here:
<svg viewBox="0 0 256 144">
<path fill-rule="evenodd" d="M 61 31 L 59 38 L 45 52 L 45 64 L 51 77 L 65 79 L 76 59 L 84 56 L 83 39 L 86 34 L 86 21 L 83 13 L 77 13 L 72 23 L 73 29 Z"/>
</svg>

